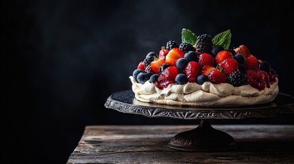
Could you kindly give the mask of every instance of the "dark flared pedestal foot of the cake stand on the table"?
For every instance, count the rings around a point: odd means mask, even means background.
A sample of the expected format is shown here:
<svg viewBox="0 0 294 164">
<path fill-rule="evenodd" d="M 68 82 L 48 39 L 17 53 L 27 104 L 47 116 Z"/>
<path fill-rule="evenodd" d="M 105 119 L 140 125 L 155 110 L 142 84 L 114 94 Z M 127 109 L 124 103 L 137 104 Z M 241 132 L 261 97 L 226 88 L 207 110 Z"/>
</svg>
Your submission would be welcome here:
<svg viewBox="0 0 294 164">
<path fill-rule="evenodd" d="M 182 151 L 217 152 L 236 148 L 232 136 L 212 128 L 208 120 L 201 120 L 191 131 L 178 133 L 168 144 L 169 148 Z"/>
</svg>

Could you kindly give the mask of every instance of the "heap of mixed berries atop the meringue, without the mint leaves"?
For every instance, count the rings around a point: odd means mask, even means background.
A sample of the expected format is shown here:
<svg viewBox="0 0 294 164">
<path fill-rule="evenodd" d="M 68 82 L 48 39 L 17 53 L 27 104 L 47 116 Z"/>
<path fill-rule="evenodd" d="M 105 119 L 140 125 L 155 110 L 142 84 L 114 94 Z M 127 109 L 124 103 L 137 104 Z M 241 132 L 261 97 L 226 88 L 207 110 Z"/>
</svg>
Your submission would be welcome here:
<svg viewBox="0 0 294 164">
<path fill-rule="evenodd" d="M 264 90 L 278 77 L 271 64 L 251 55 L 247 46 L 224 49 L 221 45 L 213 45 L 208 34 L 198 36 L 195 45 L 182 42 L 179 46 L 171 40 L 158 54 L 148 53 L 138 64 L 133 72 L 137 83 L 149 81 L 162 90 L 171 83 L 202 85 L 210 81 L 235 87 L 249 84 Z"/>
</svg>

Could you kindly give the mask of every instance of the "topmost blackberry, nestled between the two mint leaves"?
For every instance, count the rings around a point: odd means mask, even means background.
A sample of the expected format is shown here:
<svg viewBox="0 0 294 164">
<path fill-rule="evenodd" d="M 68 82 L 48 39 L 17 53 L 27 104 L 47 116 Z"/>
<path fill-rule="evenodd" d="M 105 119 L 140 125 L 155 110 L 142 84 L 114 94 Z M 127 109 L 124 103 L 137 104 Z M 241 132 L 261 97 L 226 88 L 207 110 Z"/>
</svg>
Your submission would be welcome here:
<svg viewBox="0 0 294 164">
<path fill-rule="evenodd" d="M 212 38 L 208 34 L 202 34 L 197 37 L 197 52 L 198 53 L 211 53 L 212 50 Z"/>
</svg>

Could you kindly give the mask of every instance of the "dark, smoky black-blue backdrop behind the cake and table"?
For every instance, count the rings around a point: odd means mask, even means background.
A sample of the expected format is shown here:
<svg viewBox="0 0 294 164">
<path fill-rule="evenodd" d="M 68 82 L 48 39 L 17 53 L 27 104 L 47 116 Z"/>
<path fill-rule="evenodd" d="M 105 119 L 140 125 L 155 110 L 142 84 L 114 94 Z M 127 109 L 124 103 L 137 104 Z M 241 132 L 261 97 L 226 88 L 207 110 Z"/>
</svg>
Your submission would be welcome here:
<svg viewBox="0 0 294 164">
<path fill-rule="evenodd" d="M 182 28 L 215 36 L 271 62 L 280 92 L 294 95 L 293 8 L 286 1 L 1 2 L 1 163 L 66 163 L 84 126 L 198 124 L 145 118 L 103 105 L 130 90 L 149 51 L 180 44 Z M 212 121 L 293 124 L 293 115 Z"/>
</svg>

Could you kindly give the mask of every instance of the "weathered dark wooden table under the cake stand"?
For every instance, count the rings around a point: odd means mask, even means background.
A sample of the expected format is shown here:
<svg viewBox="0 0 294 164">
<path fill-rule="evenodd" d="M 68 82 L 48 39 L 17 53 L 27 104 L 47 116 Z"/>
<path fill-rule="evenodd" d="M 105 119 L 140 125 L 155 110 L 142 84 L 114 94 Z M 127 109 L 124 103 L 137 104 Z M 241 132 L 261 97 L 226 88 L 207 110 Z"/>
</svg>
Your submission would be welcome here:
<svg viewBox="0 0 294 164">
<path fill-rule="evenodd" d="M 67 163 L 294 163 L 294 125 L 212 125 L 234 137 L 228 152 L 180 152 L 170 139 L 196 126 L 86 126 Z"/>
</svg>

